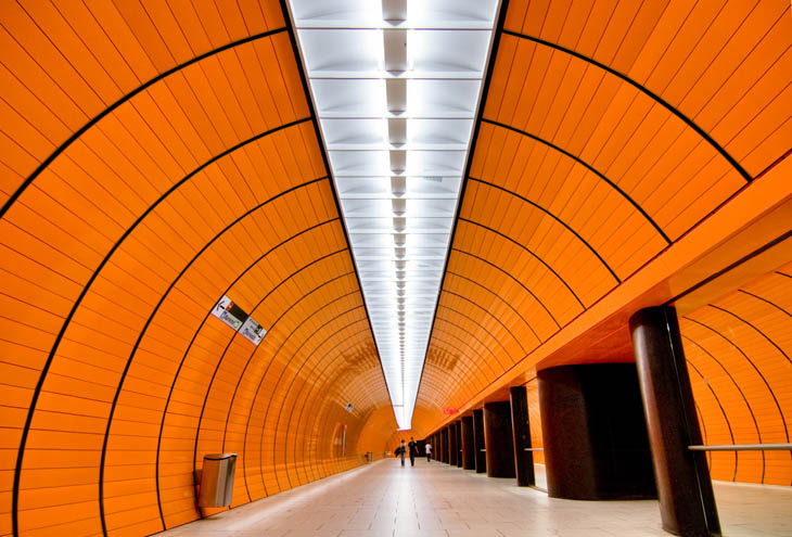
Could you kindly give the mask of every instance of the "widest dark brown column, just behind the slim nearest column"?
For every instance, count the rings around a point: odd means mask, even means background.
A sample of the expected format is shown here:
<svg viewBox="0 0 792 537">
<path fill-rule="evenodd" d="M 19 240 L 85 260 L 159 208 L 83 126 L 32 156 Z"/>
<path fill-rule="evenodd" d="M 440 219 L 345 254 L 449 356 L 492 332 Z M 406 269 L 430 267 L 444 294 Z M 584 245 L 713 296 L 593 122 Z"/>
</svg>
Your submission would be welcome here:
<svg viewBox="0 0 792 537">
<path fill-rule="evenodd" d="M 548 495 L 656 498 L 635 366 L 561 366 L 537 376 Z"/>
</svg>

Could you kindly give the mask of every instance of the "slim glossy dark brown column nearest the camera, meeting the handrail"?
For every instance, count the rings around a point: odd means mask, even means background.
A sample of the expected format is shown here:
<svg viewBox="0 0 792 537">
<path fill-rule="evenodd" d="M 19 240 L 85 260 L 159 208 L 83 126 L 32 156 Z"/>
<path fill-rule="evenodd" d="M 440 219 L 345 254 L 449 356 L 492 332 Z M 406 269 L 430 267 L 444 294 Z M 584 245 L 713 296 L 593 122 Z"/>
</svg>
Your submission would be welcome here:
<svg viewBox="0 0 792 537">
<path fill-rule="evenodd" d="M 666 532 L 720 534 L 720 522 L 703 451 L 676 310 L 647 308 L 629 320 Z"/>
</svg>

